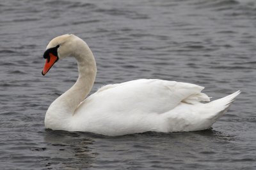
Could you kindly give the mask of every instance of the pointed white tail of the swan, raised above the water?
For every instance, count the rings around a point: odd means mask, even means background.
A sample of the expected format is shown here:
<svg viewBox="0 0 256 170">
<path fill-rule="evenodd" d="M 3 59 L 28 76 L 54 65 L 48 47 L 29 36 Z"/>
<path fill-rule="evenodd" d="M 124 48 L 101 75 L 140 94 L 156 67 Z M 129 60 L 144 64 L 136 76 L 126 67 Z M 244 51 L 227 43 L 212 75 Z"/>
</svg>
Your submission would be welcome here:
<svg viewBox="0 0 256 170">
<path fill-rule="evenodd" d="M 226 97 L 205 104 L 207 108 L 214 110 L 211 112 L 210 116 L 207 117 L 207 119 L 211 121 L 211 125 L 227 112 L 232 102 L 240 93 L 241 91 L 238 90 L 237 92 L 234 92 L 233 94 L 230 94 Z"/>
</svg>

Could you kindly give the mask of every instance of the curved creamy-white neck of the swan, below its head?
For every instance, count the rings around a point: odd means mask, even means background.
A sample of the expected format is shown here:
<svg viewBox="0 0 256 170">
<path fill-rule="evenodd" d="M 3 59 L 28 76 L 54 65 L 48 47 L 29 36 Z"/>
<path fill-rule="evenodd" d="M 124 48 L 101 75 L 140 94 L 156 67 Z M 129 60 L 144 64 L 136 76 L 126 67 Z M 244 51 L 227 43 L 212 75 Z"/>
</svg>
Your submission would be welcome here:
<svg viewBox="0 0 256 170">
<path fill-rule="evenodd" d="M 54 110 L 59 110 L 62 117 L 64 114 L 67 116 L 73 115 L 77 106 L 84 100 L 90 93 L 95 81 L 97 67 L 90 48 L 84 43 L 77 52 L 73 53 L 77 60 L 79 76 L 76 83 L 67 90 L 64 94 L 58 97 L 52 103 Z"/>
</svg>

